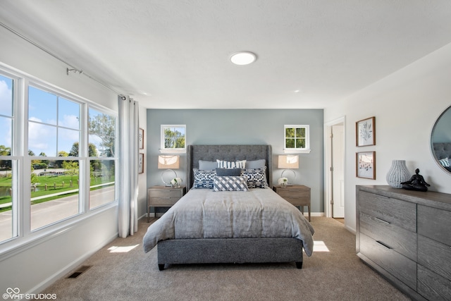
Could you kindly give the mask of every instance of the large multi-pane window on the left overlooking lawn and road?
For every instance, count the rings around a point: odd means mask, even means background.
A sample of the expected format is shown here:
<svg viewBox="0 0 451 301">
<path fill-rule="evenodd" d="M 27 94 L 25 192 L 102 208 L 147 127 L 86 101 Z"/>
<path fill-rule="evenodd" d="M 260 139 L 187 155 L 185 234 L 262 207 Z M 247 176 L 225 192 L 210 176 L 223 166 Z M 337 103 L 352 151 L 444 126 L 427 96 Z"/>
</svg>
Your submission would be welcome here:
<svg viewBox="0 0 451 301">
<path fill-rule="evenodd" d="M 116 119 L 0 69 L 0 244 L 115 201 Z"/>
</svg>

